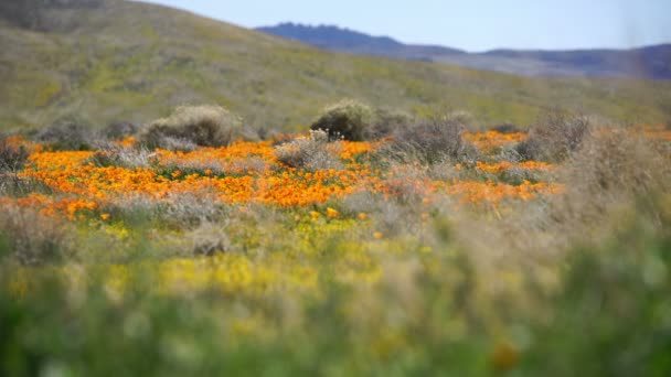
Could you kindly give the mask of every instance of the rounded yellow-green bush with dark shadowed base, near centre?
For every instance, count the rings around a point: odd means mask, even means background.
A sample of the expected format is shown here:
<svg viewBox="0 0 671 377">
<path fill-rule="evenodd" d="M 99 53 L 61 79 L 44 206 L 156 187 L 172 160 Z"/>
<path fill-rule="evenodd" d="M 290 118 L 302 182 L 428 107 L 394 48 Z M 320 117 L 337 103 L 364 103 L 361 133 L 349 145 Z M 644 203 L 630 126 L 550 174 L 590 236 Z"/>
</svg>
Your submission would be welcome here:
<svg viewBox="0 0 671 377">
<path fill-rule="evenodd" d="M 373 121 L 374 111 L 370 106 L 345 99 L 324 108 L 310 129 L 326 130 L 331 136 L 340 134 L 345 140 L 361 141 L 368 138 Z"/>
</svg>

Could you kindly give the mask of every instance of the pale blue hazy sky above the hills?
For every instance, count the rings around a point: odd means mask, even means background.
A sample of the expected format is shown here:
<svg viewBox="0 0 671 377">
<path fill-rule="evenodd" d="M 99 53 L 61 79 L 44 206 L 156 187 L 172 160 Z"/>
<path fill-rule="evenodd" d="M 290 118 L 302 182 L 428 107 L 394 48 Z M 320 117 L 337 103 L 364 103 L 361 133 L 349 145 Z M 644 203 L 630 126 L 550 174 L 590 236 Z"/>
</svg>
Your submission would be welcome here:
<svg viewBox="0 0 671 377">
<path fill-rule="evenodd" d="M 406 43 L 496 47 L 630 47 L 671 42 L 671 0 L 148 0 L 254 28 L 337 24 Z"/>
</svg>

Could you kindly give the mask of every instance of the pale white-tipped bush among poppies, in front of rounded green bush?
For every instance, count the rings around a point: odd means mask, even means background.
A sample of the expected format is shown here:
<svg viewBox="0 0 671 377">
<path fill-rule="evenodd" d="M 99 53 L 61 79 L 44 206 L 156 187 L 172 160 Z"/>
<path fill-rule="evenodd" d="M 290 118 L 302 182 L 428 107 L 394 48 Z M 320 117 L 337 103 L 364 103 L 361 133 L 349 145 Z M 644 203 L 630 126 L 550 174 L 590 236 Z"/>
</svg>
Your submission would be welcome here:
<svg viewBox="0 0 671 377">
<path fill-rule="evenodd" d="M 275 148 L 277 160 L 285 165 L 310 171 L 340 169 L 338 159 L 340 143 L 329 141 L 329 132 L 310 131 L 309 137 L 299 137 Z"/>
</svg>

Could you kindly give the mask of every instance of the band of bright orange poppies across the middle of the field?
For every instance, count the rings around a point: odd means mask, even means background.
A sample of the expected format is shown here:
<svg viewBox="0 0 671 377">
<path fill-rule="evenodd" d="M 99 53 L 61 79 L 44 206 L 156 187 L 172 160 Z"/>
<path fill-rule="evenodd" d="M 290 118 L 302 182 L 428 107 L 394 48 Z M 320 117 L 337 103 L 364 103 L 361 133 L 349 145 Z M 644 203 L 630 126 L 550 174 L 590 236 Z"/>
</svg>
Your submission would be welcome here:
<svg viewBox="0 0 671 377">
<path fill-rule="evenodd" d="M 483 142 L 502 138 L 504 142 L 521 140 L 520 134 L 487 132 Z M 17 139 L 17 142 L 20 140 Z M 23 141 L 20 141 L 23 142 Z M 501 144 L 502 141 L 497 141 Z M 226 204 L 259 203 L 279 207 L 307 206 L 340 200 L 356 192 L 382 194 L 387 198 L 443 192 L 468 203 L 499 203 L 503 198 L 530 200 L 539 194 L 556 193 L 561 187 L 547 183 L 513 186 L 493 182 L 432 181 L 419 164 L 401 165 L 392 171 L 372 169 L 370 163 L 354 162 L 361 153 L 374 152 L 382 142 L 341 141 L 343 169 L 306 171 L 279 163 L 270 141 L 236 142 L 226 148 L 199 148 L 191 152 L 157 150 L 151 168 L 97 166 L 87 163 L 90 151 L 43 152 L 35 146 L 22 179 L 42 182 L 53 196 L 32 194 L 17 200 L 18 205 L 42 208 L 44 214 L 62 214 L 76 219 L 85 211 L 97 211 L 127 197 L 153 201 L 196 195 Z M 552 170 L 541 162 L 512 164 L 478 162 L 476 169 L 501 172 L 508 169 Z M 10 200 L 11 201 L 11 200 Z M 329 208 L 331 209 L 331 208 Z M 326 216 L 339 217 L 336 209 Z M 98 215 L 102 219 L 109 217 Z M 107 217 L 107 218 L 105 218 Z M 365 214 L 360 218 L 366 218 Z"/>
</svg>

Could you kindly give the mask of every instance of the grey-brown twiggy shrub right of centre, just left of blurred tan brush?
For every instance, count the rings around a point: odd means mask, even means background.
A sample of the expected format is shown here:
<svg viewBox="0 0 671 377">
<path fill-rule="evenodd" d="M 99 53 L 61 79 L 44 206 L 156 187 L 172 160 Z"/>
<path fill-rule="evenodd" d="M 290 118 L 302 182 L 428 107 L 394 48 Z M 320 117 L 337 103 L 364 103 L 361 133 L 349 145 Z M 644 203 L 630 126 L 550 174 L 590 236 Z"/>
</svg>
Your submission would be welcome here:
<svg viewBox="0 0 671 377">
<path fill-rule="evenodd" d="M 529 138 L 518 146 L 525 160 L 560 162 L 575 151 L 588 133 L 589 119 L 561 110 L 541 117 Z"/>
</svg>

